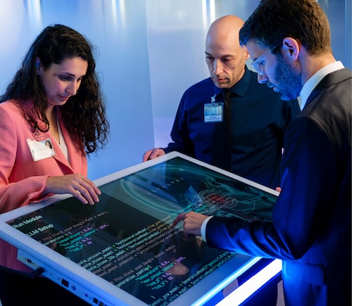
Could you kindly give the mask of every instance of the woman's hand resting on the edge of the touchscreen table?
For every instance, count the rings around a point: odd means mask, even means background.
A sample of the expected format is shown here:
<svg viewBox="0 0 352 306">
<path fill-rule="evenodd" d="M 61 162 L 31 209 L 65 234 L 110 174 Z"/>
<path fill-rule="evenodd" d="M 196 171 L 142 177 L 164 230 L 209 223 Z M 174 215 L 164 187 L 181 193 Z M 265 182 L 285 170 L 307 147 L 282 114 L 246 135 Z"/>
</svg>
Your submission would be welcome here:
<svg viewBox="0 0 352 306">
<path fill-rule="evenodd" d="M 44 193 L 70 193 L 84 204 L 99 202 L 101 191 L 82 174 L 48 177 Z"/>
</svg>

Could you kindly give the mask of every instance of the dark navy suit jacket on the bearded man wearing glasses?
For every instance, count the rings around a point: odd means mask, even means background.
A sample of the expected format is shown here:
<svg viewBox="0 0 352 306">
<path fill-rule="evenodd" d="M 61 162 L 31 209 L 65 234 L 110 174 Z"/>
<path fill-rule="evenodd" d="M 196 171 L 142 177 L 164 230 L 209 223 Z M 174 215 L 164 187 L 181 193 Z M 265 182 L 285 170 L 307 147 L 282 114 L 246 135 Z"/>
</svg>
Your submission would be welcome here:
<svg viewBox="0 0 352 306">
<path fill-rule="evenodd" d="M 327 75 L 284 136 L 272 223 L 213 217 L 209 246 L 283 260 L 286 305 L 351 305 L 351 71 Z"/>
</svg>

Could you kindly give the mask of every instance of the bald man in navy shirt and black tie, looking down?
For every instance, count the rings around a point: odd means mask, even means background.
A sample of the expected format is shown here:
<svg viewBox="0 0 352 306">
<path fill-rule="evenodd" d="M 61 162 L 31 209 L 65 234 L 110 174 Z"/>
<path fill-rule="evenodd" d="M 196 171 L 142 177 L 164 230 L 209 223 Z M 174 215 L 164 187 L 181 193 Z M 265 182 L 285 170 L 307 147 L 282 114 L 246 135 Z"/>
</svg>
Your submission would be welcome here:
<svg viewBox="0 0 352 306">
<path fill-rule="evenodd" d="M 210 25 L 210 77 L 184 92 L 172 127 L 173 142 L 147 151 L 144 161 L 179 151 L 272 189 L 279 186 L 284 130 L 299 112 L 298 101 L 282 101 L 246 68 L 249 52 L 239 44 L 243 25 L 234 15 Z M 230 92 L 230 107 L 222 91 Z"/>
</svg>

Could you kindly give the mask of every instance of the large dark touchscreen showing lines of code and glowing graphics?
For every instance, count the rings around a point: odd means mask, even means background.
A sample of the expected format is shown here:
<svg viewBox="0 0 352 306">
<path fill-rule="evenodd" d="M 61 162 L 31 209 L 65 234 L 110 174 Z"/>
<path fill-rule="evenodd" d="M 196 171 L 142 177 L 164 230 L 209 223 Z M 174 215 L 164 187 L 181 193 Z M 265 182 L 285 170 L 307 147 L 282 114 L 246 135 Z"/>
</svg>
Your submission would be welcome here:
<svg viewBox="0 0 352 306">
<path fill-rule="evenodd" d="M 67 198 L 9 222 L 149 305 L 168 305 L 236 257 L 184 236 L 181 212 L 270 221 L 276 196 L 183 158 L 99 186 L 99 203 Z"/>
</svg>

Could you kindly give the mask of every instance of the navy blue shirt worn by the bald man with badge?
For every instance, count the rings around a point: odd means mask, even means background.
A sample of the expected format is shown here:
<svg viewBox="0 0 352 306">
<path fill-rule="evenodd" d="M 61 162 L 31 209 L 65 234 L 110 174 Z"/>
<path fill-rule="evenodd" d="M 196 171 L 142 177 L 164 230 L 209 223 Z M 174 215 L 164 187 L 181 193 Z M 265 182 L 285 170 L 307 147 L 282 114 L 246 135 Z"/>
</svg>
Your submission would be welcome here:
<svg viewBox="0 0 352 306">
<path fill-rule="evenodd" d="M 298 101 L 282 101 L 257 74 L 248 70 L 230 89 L 231 169 L 241 177 L 275 189 L 279 186 L 284 130 L 300 111 Z M 165 152 L 179 151 L 212 163 L 214 128 L 218 122 L 204 122 L 204 104 L 222 92 L 210 79 L 184 92 Z"/>
</svg>

